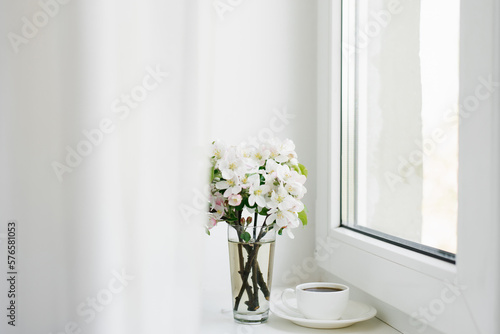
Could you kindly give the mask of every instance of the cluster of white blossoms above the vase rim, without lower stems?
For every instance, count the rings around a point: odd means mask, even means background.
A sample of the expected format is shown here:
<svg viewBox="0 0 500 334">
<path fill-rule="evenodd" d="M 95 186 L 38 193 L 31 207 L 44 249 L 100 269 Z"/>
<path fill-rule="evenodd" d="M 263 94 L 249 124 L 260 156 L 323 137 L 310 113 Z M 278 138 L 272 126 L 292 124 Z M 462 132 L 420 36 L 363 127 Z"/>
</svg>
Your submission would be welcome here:
<svg viewBox="0 0 500 334">
<path fill-rule="evenodd" d="M 307 224 L 301 201 L 307 169 L 291 140 L 273 139 L 258 147 L 216 141 L 212 151 L 208 231 L 221 221 L 240 224 L 238 212 L 245 208 L 267 216 L 267 224 L 276 224 L 279 234 L 286 230 L 291 238 L 293 228 Z"/>
</svg>

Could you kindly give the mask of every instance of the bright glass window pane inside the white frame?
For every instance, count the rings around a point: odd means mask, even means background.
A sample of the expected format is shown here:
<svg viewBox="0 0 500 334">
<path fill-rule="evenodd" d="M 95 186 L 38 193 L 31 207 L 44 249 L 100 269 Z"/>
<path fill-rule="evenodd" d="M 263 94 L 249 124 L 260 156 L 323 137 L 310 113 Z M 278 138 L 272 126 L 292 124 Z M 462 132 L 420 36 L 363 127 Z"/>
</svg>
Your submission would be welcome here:
<svg viewBox="0 0 500 334">
<path fill-rule="evenodd" d="M 344 225 L 456 253 L 459 5 L 344 0 Z"/>
</svg>

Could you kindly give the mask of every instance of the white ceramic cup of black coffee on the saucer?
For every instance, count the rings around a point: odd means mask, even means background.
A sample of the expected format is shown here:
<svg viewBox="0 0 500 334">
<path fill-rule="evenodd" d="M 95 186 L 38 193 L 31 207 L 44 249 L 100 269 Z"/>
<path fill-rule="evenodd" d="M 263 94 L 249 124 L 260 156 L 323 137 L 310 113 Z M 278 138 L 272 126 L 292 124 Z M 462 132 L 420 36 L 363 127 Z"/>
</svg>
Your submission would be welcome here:
<svg viewBox="0 0 500 334">
<path fill-rule="evenodd" d="M 297 307 L 290 304 L 289 296 L 295 295 Z M 303 283 L 281 294 L 283 305 L 307 319 L 337 320 L 347 307 L 349 287 L 338 283 Z"/>
</svg>

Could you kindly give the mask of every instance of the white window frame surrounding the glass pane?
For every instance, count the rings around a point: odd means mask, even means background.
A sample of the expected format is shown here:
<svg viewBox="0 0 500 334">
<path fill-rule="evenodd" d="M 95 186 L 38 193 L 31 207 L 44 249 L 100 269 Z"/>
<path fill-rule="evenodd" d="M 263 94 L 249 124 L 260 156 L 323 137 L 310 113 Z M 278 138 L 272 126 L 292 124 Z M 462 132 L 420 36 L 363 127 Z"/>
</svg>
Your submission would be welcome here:
<svg viewBox="0 0 500 334">
<path fill-rule="evenodd" d="M 486 92 L 479 77 L 500 80 L 500 0 L 461 0 L 460 15 L 462 103 Z M 350 284 L 404 333 L 500 333 L 500 87 L 461 119 L 456 265 L 344 229 L 340 22 L 341 1 L 319 0 L 317 252 L 324 236 L 333 249 L 318 261 L 324 278 Z"/>
</svg>

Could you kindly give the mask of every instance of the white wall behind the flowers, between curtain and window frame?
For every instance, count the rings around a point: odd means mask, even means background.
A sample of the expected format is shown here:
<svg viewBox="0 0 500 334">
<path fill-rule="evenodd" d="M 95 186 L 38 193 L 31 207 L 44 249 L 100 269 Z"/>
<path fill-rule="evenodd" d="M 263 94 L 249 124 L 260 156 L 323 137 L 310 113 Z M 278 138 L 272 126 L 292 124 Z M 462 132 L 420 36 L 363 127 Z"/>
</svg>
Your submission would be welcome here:
<svg viewBox="0 0 500 334">
<path fill-rule="evenodd" d="M 232 1 L 236 3 L 237 1 Z M 221 1 L 226 3 L 226 1 Z M 316 1 L 240 1 L 222 14 L 214 9 L 215 70 L 211 85 L 211 138 L 239 144 L 269 130 L 296 144 L 299 161 L 309 169 L 304 198 L 309 226 L 294 231 L 295 239 L 277 238 L 273 286 L 294 285 L 294 266 L 303 267 L 314 249 L 316 199 Z M 276 110 L 287 110 L 288 124 Z M 273 120 L 274 119 L 274 120 Z M 265 128 L 269 130 L 264 130 Z M 207 236 L 205 293 L 227 294 L 230 308 L 226 226 Z M 307 261 L 306 261 L 307 262 Z M 297 270 L 297 267 L 296 270 Z M 300 269 L 299 269 L 300 270 Z M 302 273 L 299 280 L 313 280 Z"/>
</svg>

